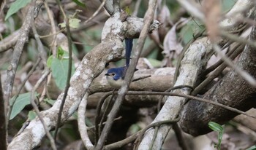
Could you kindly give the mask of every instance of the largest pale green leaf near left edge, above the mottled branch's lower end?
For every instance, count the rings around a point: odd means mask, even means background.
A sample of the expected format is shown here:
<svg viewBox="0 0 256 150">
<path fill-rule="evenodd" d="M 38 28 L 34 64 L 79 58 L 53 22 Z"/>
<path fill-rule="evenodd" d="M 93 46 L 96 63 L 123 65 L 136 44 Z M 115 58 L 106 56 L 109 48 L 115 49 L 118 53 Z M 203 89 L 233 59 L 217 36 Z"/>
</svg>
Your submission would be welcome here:
<svg viewBox="0 0 256 150">
<path fill-rule="evenodd" d="M 15 103 L 12 106 L 12 112 L 10 115 L 10 120 L 17 116 L 17 114 L 20 113 L 20 111 L 25 108 L 25 106 L 30 104 L 30 92 L 26 92 L 24 94 L 18 95 L 18 98 L 15 100 Z M 36 95 L 38 95 L 36 93 Z M 11 99 L 10 103 L 13 103 L 14 97 Z"/>
</svg>

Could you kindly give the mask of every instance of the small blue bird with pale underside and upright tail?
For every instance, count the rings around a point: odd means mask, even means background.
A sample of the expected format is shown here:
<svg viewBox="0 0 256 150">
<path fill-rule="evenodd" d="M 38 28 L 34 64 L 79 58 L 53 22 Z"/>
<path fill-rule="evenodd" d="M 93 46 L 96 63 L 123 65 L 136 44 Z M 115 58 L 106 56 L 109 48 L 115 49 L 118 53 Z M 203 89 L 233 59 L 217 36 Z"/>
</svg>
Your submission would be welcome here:
<svg viewBox="0 0 256 150">
<path fill-rule="evenodd" d="M 132 53 L 132 44 L 133 39 L 125 39 L 125 58 L 126 58 L 126 66 L 118 67 L 118 68 L 110 68 L 108 69 L 107 77 L 108 83 L 111 87 L 116 89 L 120 88 L 124 82 L 124 76 L 127 73 L 127 68 L 129 67 L 129 59 Z"/>
</svg>

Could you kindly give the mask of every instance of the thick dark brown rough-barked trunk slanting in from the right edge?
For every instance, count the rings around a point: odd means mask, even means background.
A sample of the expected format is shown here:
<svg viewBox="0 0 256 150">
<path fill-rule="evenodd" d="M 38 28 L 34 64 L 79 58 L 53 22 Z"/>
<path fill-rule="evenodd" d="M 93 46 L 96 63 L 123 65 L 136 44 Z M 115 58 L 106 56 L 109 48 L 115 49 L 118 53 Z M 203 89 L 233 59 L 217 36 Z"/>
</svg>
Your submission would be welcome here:
<svg viewBox="0 0 256 150">
<path fill-rule="evenodd" d="M 250 39 L 256 39 L 255 27 L 252 29 Z M 256 77 L 255 55 L 255 47 L 246 47 L 236 64 L 254 77 Z M 256 88 L 242 79 L 235 71 L 230 71 L 206 92 L 203 98 L 246 111 L 255 106 L 255 96 Z M 203 135 L 211 131 L 208 122 L 224 124 L 237 115 L 219 106 L 190 100 L 184 108 L 180 125 L 186 133 Z"/>
</svg>

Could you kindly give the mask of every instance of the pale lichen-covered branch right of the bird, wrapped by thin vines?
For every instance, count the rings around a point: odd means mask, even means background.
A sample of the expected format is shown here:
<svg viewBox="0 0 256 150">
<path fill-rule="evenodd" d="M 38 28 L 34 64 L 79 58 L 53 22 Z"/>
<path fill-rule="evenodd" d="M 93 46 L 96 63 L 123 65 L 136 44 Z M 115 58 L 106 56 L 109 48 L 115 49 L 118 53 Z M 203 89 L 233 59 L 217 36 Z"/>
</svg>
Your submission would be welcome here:
<svg viewBox="0 0 256 150">
<path fill-rule="evenodd" d="M 197 8 L 195 8 L 197 9 Z M 230 11 L 233 11 L 231 9 Z M 249 9 L 247 10 L 249 12 Z M 237 13 L 236 15 L 244 14 L 244 12 Z M 247 15 L 247 14 L 246 14 Z M 200 17 L 200 16 L 199 16 Z M 201 18 L 201 17 L 200 17 Z M 202 19 L 202 18 L 201 18 Z M 225 26 L 232 26 L 233 22 L 227 22 L 223 20 L 220 23 L 221 28 L 225 28 Z M 236 28 L 235 26 L 232 26 Z M 230 28 L 232 30 L 233 28 Z M 223 42 L 220 39 L 219 42 Z M 206 66 L 206 62 L 208 61 L 208 53 L 211 51 L 212 45 L 209 42 L 208 38 L 203 38 L 195 41 L 190 47 L 189 50 L 185 53 L 183 60 L 181 61 L 181 67 L 179 68 L 179 76 L 177 82 L 174 84 L 175 86 L 186 84 L 195 86 L 195 81 L 197 80 L 198 74 L 201 72 L 201 69 Z M 189 94 L 190 90 L 187 88 L 181 90 L 175 90 L 173 92 L 181 92 L 184 94 Z M 165 105 L 162 107 L 161 111 L 154 119 L 154 122 L 165 119 L 173 119 L 175 118 L 181 111 L 184 105 L 185 98 L 177 98 L 177 97 L 167 97 L 167 101 Z M 192 123 L 192 122 L 191 122 Z M 165 137 L 170 130 L 170 126 L 165 125 L 159 127 L 159 131 L 157 134 L 156 141 L 154 142 L 153 149 L 160 149 L 162 147 L 162 143 L 165 141 Z M 200 129 L 200 128 L 199 128 Z M 148 130 L 146 135 L 143 138 L 143 141 L 140 143 L 139 149 L 149 149 L 148 146 L 151 145 L 151 140 L 154 135 L 154 129 Z"/>
</svg>

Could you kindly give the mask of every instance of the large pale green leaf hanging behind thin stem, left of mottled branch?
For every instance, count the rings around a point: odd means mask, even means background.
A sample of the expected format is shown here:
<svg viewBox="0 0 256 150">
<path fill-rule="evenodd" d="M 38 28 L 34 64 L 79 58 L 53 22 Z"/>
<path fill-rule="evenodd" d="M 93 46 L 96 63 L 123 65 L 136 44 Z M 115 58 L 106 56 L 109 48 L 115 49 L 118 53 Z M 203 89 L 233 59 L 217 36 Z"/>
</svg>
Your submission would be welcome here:
<svg viewBox="0 0 256 150">
<path fill-rule="evenodd" d="M 67 82 L 67 71 L 69 68 L 69 59 L 53 58 L 50 68 L 51 68 L 53 78 L 55 79 L 57 87 L 59 87 L 60 90 L 64 90 Z M 75 72 L 75 66 L 74 66 L 74 63 L 72 63 L 72 74 L 74 74 L 74 72 Z"/>
</svg>

